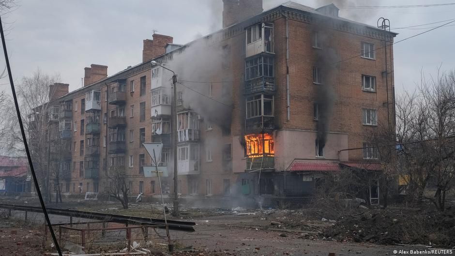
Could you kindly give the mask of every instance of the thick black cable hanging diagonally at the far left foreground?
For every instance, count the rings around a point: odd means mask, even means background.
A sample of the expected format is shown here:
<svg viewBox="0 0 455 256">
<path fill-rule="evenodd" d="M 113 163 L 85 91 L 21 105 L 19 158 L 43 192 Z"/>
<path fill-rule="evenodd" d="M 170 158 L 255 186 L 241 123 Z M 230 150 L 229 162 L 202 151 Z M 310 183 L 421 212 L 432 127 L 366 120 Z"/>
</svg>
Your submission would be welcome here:
<svg viewBox="0 0 455 256">
<path fill-rule="evenodd" d="M 3 46 L 3 53 L 5 54 L 6 69 L 8 70 L 8 76 L 10 79 L 10 85 L 11 85 L 11 90 L 12 90 L 12 94 L 13 94 L 14 104 L 16 107 L 17 120 L 19 121 L 19 127 L 20 127 L 20 132 L 22 134 L 22 140 L 24 141 L 25 152 L 27 153 L 27 158 L 29 160 L 30 172 L 31 172 L 31 175 L 33 176 L 33 182 L 35 183 L 35 189 L 36 189 L 36 192 L 40 199 L 40 204 L 41 204 L 41 207 L 43 208 L 44 217 L 45 217 L 47 226 L 49 227 L 49 232 L 52 236 L 52 240 L 54 241 L 55 249 L 57 249 L 59 256 L 62 256 L 59 243 L 57 241 L 57 238 L 55 237 L 54 229 L 52 228 L 52 225 L 51 225 L 50 219 L 49 219 L 49 215 L 47 214 L 47 211 L 46 211 L 46 206 L 45 206 L 45 203 L 43 200 L 43 195 L 41 195 L 41 190 L 40 190 L 40 187 L 38 184 L 38 179 L 36 178 L 35 170 L 33 168 L 33 163 L 31 161 L 29 145 L 27 144 L 27 136 L 25 136 L 24 124 L 22 123 L 22 117 L 20 115 L 20 110 L 19 110 L 19 103 L 17 101 L 16 90 L 14 87 L 13 75 L 11 74 L 10 61 L 8 59 L 8 53 L 6 51 L 5 35 L 3 33 L 3 25 L 2 25 L 2 21 L 1 21 L 1 16 L 0 16 L 0 34 L 1 34 L 1 44 Z"/>
</svg>

